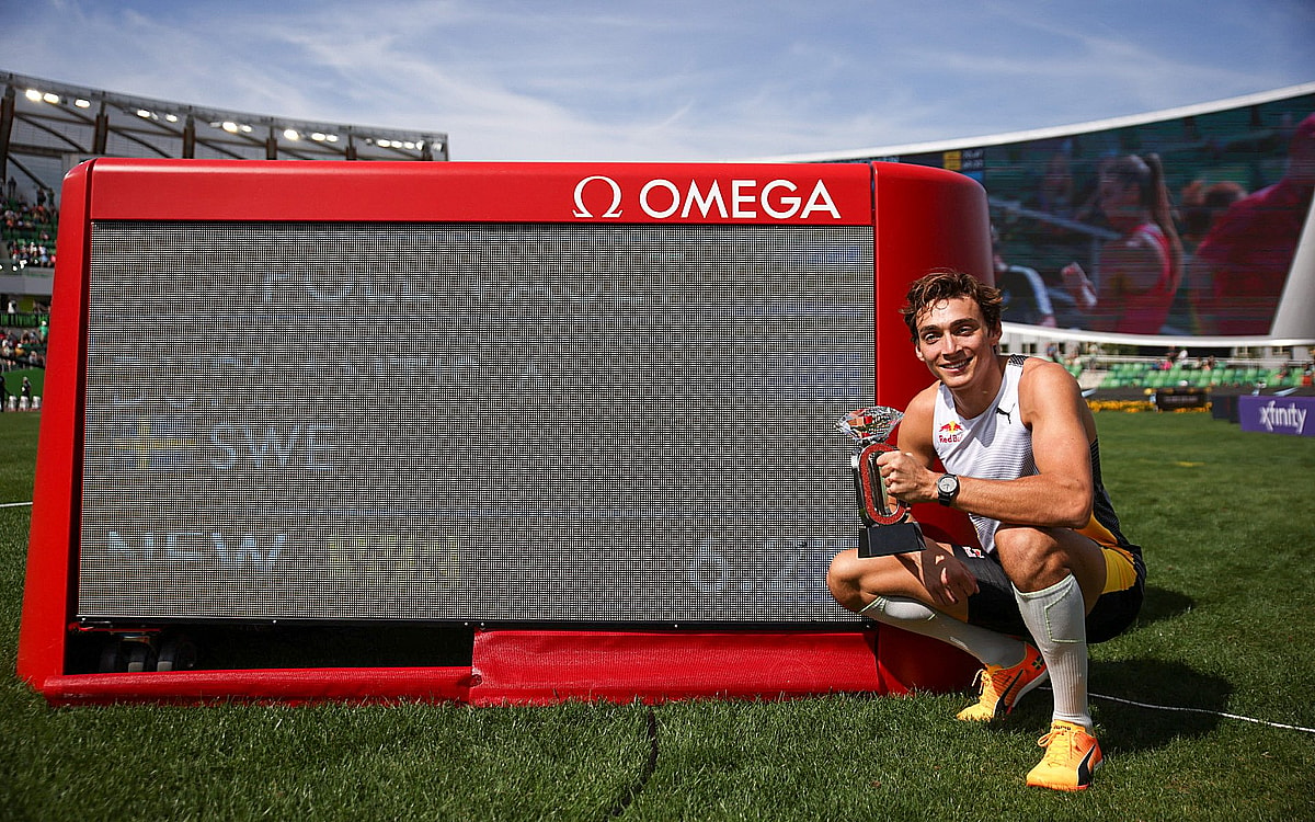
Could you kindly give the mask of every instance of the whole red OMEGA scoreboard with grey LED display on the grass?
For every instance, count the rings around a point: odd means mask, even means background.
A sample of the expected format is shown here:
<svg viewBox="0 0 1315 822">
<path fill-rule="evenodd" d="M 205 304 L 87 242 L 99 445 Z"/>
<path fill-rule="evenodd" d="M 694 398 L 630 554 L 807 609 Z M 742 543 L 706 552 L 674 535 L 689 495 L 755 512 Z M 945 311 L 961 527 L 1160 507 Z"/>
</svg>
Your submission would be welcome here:
<svg viewBox="0 0 1315 822">
<path fill-rule="evenodd" d="M 871 647 L 825 584 L 834 422 L 928 381 L 910 280 L 992 276 L 982 189 L 882 163 L 99 159 L 58 260 L 20 641 L 54 701 L 341 696 L 331 655 L 305 693 L 70 662 L 201 625 Z"/>
</svg>

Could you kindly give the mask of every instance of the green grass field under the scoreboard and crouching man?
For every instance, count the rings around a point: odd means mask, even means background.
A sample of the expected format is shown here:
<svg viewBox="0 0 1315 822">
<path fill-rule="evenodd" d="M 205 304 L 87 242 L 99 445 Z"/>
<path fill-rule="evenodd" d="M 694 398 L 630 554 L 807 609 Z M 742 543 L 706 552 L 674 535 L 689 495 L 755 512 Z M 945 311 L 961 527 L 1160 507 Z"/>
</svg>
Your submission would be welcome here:
<svg viewBox="0 0 1315 822">
<path fill-rule="evenodd" d="M 32 498 L 36 414 L 0 414 L 0 502 Z M 51 709 L 12 676 L 28 508 L 0 509 L 4 819 L 1311 819 L 1315 439 L 1101 413 L 1147 550 L 1139 623 L 1093 648 L 1106 767 L 1027 789 L 1049 693 L 999 727 L 964 694 L 469 709 Z"/>
</svg>

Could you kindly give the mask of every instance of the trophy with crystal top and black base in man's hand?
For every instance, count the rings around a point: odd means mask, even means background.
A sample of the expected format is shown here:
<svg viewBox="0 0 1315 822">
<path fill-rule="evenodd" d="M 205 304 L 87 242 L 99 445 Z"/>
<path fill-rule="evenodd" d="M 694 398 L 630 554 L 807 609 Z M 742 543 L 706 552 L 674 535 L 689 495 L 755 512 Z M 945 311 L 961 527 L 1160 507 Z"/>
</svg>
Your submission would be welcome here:
<svg viewBox="0 0 1315 822">
<path fill-rule="evenodd" d="M 851 412 L 835 423 L 853 437 L 856 443 L 849 466 L 853 468 L 859 516 L 864 523 L 859 534 L 860 558 L 909 554 L 924 547 L 922 527 L 909 517 L 907 505 L 890 497 L 877 468 L 877 458 L 886 451 L 898 450 L 886 439 L 902 417 L 903 412 L 898 409 L 873 405 Z"/>
</svg>

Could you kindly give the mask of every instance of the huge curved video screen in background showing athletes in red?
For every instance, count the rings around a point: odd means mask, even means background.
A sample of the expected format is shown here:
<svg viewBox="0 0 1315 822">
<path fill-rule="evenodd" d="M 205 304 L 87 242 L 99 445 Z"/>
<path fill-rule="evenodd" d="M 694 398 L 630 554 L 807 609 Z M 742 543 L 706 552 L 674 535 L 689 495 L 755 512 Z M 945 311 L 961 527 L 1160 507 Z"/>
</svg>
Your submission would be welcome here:
<svg viewBox="0 0 1315 822">
<path fill-rule="evenodd" d="M 1137 208 L 1151 204 L 1149 155 L 1169 204 L 1159 221 Z M 1268 335 L 1315 189 L 1315 95 L 865 159 L 951 168 L 985 185 L 1006 321 Z"/>
</svg>

